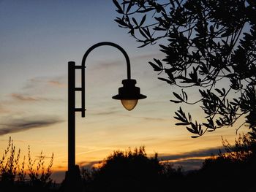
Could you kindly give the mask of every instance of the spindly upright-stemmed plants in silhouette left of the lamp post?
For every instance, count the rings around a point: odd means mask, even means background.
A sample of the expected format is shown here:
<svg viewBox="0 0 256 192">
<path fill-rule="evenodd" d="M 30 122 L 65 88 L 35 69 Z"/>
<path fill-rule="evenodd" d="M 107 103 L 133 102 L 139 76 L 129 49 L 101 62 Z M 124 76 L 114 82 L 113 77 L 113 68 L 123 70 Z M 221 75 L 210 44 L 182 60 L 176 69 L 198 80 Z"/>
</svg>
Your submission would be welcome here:
<svg viewBox="0 0 256 192">
<path fill-rule="evenodd" d="M 29 147 L 28 157 L 27 165 L 25 156 L 20 163 L 20 149 L 16 150 L 10 137 L 7 149 L 0 160 L 0 191 L 50 191 L 53 154 L 46 168 L 45 155 L 42 152 L 37 160 L 33 160 Z"/>
</svg>

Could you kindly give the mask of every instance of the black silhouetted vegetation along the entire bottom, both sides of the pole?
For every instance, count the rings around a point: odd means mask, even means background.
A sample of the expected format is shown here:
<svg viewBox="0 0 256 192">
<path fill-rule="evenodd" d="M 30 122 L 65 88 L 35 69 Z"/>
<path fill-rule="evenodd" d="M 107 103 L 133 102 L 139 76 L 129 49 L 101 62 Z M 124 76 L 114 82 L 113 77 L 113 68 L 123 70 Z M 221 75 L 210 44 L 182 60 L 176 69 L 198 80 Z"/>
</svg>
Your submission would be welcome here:
<svg viewBox="0 0 256 192">
<path fill-rule="evenodd" d="M 26 175 L 24 164 L 16 162 L 19 152 L 15 155 L 12 142 L 9 146 L 10 157 L 6 151 L 0 161 L 0 191 L 61 191 L 50 179 L 52 161 L 46 169 L 43 159 L 36 164 L 29 155 Z M 114 151 L 98 168 L 81 170 L 84 191 L 256 191 L 255 139 L 242 135 L 235 145 L 223 140 L 223 146 L 225 150 L 190 172 L 161 163 L 157 153 L 149 158 L 145 147 Z"/>
</svg>

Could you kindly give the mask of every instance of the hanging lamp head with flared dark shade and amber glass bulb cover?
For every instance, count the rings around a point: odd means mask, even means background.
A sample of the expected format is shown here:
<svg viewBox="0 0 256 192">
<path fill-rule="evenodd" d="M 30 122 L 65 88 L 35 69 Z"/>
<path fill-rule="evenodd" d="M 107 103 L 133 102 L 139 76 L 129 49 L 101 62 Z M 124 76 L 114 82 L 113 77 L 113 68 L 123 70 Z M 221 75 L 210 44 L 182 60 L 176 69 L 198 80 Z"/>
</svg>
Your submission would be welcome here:
<svg viewBox="0 0 256 192">
<path fill-rule="evenodd" d="M 140 94 L 140 88 L 135 87 L 136 80 L 122 80 L 123 87 L 118 88 L 118 95 L 113 99 L 121 100 L 121 104 L 127 110 L 133 110 L 138 103 L 138 99 L 145 99 L 146 96 Z"/>
</svg>

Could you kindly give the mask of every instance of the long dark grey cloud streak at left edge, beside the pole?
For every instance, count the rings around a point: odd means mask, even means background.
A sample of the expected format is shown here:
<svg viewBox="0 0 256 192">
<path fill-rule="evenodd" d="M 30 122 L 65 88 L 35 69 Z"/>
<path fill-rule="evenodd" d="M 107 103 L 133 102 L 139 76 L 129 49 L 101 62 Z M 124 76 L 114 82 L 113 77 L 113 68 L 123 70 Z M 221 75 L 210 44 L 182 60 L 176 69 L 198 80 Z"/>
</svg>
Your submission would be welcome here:
<svg viewBox="0 0 256 192">
<path fill-rule="evenodd" d="M 4 122 L 5 121 L 5 122 Z M 29 118 L 7 118 L 1 120 L 0 136 L 4 134 L 12 134 L 20 131 L 26 131 L 32 128 L 43 128 L 61 123 L 64 120 L 49 117 L 29 117 Z"/>
</svg>

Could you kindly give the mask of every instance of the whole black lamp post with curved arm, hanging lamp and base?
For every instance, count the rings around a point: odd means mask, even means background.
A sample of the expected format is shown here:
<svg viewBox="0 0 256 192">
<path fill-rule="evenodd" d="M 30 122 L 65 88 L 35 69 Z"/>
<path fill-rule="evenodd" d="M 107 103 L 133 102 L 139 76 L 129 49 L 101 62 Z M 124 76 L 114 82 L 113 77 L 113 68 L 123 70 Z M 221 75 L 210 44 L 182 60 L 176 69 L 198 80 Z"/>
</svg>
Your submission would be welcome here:
<svg viewBox="0 0 256 192">
<path fill-rule="evenodd" d="M 122 47 L 113 42 L 99 42 L 91 46 L 83 55 L 80 66 L 76 66 L 74 61 L 68 62 L 68 171 L 64 180 L 64 191 L 80 191 L 82 188 L 79 167 L 75 165 L 75 112 L 81 112 L 82 118 L 86 116 L 86 58 L 92 50 L 103 45 L 116 47 L 124 54 L 127 62 L 127 79 L 122 80 L 123 87 L 118 88 L 118 94 L 112 98 L 121 100 L 121 104 L 127 110 L 134 109 L 138 99 L 146 98 L 146 96 L 140 94 L 140 88 L 135 86 L 136 80 L 131 79 L 131 69 L 127 53 Z M 81 72 L 81 86 L 79 88 L 75 86 L 75 70 L 80 70 Z M 78 92 L 80 92 L 82 99 L 80 108 L 75 107 L 75 94 Z"/>
</svg>

